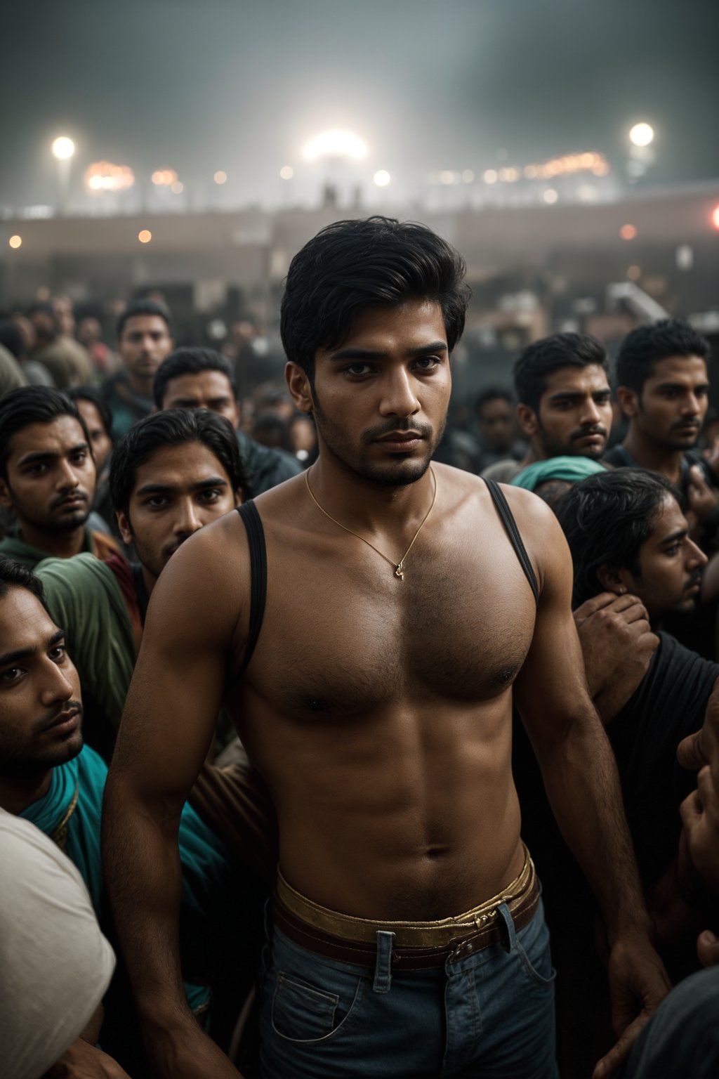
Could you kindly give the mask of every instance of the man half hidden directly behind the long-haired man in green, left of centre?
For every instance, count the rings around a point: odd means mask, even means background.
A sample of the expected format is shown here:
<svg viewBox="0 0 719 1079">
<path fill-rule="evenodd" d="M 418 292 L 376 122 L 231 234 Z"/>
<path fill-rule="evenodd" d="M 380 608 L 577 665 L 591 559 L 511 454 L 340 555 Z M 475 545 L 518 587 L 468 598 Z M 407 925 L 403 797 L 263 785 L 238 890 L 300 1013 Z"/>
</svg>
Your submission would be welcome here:
<svg viewBox="0 0 719 1079">
<path fill-rule="evenodd" d="M 227 360 L 212 349 L 177 349 L 155 374 L 155 406 L 206 408 L 225 416 L 235 428 L 243 464 L 253 495 L 302 472 L 301 465 L 282 450 L 261 446 L 239 429 L 240 406 Z"/>
</svg>

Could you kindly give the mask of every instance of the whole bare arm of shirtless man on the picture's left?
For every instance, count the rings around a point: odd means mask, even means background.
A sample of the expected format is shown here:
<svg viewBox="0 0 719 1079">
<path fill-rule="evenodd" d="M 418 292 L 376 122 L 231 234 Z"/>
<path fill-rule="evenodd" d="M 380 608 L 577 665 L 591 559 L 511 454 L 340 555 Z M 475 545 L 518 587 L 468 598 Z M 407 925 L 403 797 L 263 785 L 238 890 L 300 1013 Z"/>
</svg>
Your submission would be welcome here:
<svg viewBox="0 0 719 1079">
<path fill-rule="evenodd" d="M 153 591 L 102 815 L 108 892 L 146 1044 L 157 1075 L 172 1079 L 237 1077 L 186 1005 L 178 948 L 180 814 L 212 737 L 239 611 L 230 536 L 226 519 L 203 529 Z"/>
</svg>

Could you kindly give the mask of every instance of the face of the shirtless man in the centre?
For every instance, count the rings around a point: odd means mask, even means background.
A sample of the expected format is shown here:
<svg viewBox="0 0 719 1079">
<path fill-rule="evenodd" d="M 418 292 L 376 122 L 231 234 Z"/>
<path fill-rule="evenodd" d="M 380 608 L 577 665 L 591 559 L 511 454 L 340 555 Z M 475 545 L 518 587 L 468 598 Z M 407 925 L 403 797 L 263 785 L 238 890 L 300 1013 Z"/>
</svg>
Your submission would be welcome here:
<svg viewBox="0 0 719 1079">
<path fill-rule="evenodd" d="M 309 391 L 305 379 L 300 392 L 298 370 L 288 365 L 288 380 L 306 410 Z M 346 341 L 315 356 L 309 405 L 320 447 L 345 472 L 374 483 L 413 483 L 442 438 L 451 390 L 439 304 L 410 300 L 362 311 Z"/>
</svg>

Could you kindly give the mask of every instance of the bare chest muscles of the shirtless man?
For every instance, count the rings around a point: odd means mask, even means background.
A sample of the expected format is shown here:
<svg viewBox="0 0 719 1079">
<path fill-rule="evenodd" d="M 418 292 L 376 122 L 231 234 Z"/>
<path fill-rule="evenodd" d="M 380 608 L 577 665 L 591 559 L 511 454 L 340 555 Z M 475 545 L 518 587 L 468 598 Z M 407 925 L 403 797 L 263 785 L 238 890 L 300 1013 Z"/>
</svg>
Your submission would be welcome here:
<svg viewBox="0 0 719 1079">
<path fill-rule="evenodd" d="M 271 548 L 247 678 L 288 718 L 349 719 L 432 700 L 467 707 L 511 685 L 534 622 L 534 598 L 506 541 L 426 549 L 407 561 L 403 581 L 370 549 L 307 558 L 273 557 Z"/>
</svg>

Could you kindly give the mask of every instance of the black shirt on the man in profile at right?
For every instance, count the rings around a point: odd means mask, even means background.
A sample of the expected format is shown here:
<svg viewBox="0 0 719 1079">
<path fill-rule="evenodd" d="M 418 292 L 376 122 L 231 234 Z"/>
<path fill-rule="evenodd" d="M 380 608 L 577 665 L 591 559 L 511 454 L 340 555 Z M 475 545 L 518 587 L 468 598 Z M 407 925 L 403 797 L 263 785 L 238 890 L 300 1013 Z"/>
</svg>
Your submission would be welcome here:
<svg viewBox="0 0 719 1079">
<path fill-rule="evenodd" d="M 677 763 L 677 746 L 702 726 L 719 678 L 719 665 L 668 633 L 659 638 L 641 683 L 607 726 L 646 885 L 659 879 L 676 857 L 679 803 L 696 787 L 696 774 Z"/>
</svg>

